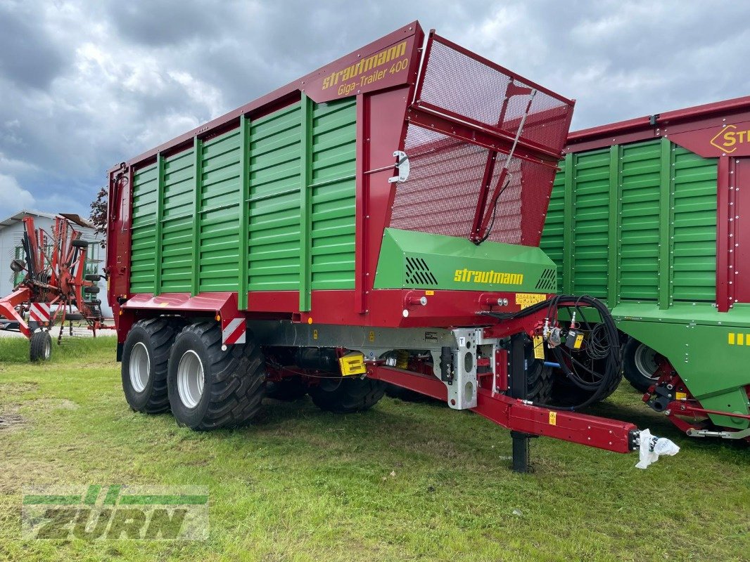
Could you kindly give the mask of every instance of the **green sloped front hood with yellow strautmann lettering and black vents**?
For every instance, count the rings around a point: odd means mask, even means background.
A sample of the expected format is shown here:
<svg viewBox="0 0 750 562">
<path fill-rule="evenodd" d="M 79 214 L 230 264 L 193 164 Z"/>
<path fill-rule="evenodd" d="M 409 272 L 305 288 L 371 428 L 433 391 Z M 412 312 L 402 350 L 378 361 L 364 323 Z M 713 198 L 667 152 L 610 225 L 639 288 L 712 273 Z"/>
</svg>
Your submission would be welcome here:
<svg viewBox="0 0 750 562">
<path fill-rule="evenodd" d="M 555 265 L 536 247 L 386 229 L 375 288 L 555 292 Z"/>
</svg>

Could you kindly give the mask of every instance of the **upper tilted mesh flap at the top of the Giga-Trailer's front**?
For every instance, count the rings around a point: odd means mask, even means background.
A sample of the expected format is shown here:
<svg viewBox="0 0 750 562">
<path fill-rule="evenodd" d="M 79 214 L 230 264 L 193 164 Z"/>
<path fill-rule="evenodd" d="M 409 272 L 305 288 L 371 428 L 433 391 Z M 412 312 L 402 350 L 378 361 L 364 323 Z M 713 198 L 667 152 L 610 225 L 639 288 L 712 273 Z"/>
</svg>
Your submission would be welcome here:
<svg viewBox="0 0 750 562">
<path fill-rule="evenodd" d="M 472 58 L 459 48 L 434 37 L 422 78 L 422 102 L 447 109 L 456 115 L 478 121 L 488 127 L 515 135 L 520 118 L 529 103 L 529 94 L 514 94 L 511 83 L 529 85 L 484 61 Z M 503 111 L 505 97 L 508 103 Z M 573 108 L 568 100 L 538 91 L 532 101 L 521 139 L 559 152 L 568 135 Z"/>
</svg>

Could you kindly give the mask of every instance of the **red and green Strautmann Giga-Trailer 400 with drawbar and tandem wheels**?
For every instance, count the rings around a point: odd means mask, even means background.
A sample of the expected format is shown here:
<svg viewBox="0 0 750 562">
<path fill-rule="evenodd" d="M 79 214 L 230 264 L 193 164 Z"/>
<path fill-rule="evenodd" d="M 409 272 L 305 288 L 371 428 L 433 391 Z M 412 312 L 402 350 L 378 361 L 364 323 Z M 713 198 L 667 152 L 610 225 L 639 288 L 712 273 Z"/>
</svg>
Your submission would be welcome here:
<svg viewBox="0 0 750 562">
<path fill-rule="evenodd" d="M 572 110 L 413 22 L 115 166 L 127 402 L 203 430 L 266 391 L 349 412 L 391 383 L 513 430 L 519 469 L 530 435 L 637 449 L 577 412 L 619 383 L 619 340 L 538 248 Z M 600 321 L 558 321 L 583 307 Z"/>
</svg>

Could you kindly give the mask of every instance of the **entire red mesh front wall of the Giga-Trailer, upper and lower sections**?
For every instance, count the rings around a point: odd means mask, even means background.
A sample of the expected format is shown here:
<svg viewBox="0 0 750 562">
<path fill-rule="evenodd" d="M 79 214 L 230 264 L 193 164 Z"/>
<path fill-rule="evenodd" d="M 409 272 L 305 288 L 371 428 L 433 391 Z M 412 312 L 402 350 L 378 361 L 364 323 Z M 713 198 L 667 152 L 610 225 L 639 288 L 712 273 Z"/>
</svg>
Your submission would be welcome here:
<svg viewBox="0 0 750 562">
<path fill-rule="evenodd" d="M 516 135 L 529 104 L 529 94 L 516 95 L 518 88 L 537 88 L 520 140 L 524 154 L 538 158 L 514 157 L 508 163 L 508 185 L 498 199 L 488 236 L 492 241 L 537 246 L 556 171 L 553 163 L 568 134 L 572 103 L 434 34 L 425 57 L 414 106 L 493 130 L 506 139 Z M 396 187 L 390 226 L 469 236 L 492 153 L 414 123 L 408 125 L 404 151 L 410 157 L 410 176 Z M 505 154 L 497 154 L 490 193 L 504 163 Z"/>
</svg>

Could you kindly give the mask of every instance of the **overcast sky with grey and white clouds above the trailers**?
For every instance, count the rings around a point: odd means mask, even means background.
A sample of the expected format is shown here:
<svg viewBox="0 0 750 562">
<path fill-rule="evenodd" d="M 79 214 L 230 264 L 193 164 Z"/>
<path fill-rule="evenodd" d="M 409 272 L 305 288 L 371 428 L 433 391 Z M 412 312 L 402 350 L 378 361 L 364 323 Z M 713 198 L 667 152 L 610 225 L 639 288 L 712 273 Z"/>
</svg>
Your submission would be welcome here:
<svg viewBox="0 0 750 562">
<path fill-rule="evenodd" d="M 0 0 L 0 219 L 419 19 L 577 100 L 573 128 L 750 94 L 745 1 Z"/>
</svg>

